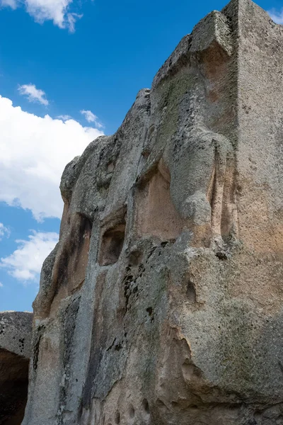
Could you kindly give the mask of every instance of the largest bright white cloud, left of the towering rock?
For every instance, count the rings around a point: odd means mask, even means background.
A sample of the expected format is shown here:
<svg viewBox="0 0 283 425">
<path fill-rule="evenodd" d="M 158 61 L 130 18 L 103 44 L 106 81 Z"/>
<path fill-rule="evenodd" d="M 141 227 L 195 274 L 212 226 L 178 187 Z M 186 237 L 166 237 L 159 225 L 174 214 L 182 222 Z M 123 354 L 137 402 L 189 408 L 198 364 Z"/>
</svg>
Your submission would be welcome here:
<svg viewBox="0 0 283 425">
<path fill-rule="evenodd" d="M 0 96 L 0 201 L 32 210 L 37 220 L 62 215 L 64 166 L 103 134 L 75 120 L 40 118 Z"/>
</svg>

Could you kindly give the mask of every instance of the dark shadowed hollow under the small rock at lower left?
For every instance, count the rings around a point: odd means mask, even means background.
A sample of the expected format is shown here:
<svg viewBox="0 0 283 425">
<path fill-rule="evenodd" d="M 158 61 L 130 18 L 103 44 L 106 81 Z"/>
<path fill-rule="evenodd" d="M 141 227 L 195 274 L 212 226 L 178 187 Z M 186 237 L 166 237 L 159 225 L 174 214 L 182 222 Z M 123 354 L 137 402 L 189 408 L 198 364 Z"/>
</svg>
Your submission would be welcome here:
<svg viewBox="0 0 283 425">
<path fill-rule="evenodd" d="M 28 397 L 28 359 L 0 349 L 0 424 L 20 425 Z"/>
</svg>

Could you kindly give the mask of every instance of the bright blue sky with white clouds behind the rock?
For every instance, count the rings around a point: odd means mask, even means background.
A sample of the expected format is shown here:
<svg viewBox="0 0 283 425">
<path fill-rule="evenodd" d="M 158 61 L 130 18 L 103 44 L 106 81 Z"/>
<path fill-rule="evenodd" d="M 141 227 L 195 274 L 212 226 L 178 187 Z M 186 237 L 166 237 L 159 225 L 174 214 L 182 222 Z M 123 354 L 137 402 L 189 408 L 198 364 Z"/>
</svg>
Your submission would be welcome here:
<svg viewBox="0 0 283 425">
<path fill-rule="evenodd" d="M 0 0 L 0 311 L 31 310 L 59 179 L 122 123 L 183 35 L 226 0 Z M 259 0 L 283 23 L 283 0 Z"/>
</svg>

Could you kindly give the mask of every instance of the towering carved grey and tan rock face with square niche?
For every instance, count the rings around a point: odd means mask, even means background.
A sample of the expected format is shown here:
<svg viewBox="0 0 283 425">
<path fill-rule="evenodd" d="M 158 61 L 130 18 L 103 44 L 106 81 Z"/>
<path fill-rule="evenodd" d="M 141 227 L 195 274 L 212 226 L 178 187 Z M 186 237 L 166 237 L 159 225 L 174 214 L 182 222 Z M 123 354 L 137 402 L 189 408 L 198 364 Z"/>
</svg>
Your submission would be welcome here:
<svg viewBox="0 0 283 425">
<path fill-rule="evenodd" d="M 232 0 L 67 165 L 24 425 L 283 424 L 282 46 Z"/>
</svg>

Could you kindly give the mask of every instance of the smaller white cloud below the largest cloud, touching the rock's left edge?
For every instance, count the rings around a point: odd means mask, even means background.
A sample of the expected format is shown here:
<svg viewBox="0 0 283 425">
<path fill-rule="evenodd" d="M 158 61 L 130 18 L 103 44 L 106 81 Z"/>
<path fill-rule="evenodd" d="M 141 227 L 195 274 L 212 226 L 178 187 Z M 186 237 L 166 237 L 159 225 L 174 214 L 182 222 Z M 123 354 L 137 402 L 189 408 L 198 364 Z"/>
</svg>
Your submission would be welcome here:
<svg viewBox="0 0 283 425">
<path fill-rule="evenodd" d="M 0 260 L 0 267 L 18 280 L 27 282 L 39 278 L 42 263 L 57 244 L 59 234 L 55 232 L 35 232 L 28 240 L 16 240 L 18 249 Z"/>
</svg>

